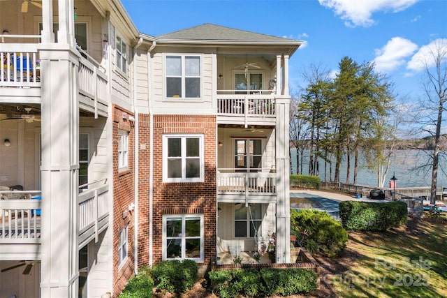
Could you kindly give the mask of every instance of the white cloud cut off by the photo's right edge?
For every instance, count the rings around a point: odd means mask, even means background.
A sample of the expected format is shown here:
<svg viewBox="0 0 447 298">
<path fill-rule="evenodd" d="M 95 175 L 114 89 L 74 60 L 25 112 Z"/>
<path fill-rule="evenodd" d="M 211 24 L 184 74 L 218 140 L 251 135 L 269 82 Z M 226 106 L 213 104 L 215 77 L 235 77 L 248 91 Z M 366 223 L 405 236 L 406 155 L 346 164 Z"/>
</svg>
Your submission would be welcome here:
<svg viewBox="0 0 447 298">
<path fill-rule="evenodd" d="M 447 38 L 438 38 L 433 40 L 428 45 L 420 47 L 418 52 L 411 57 L 411 60 L 407 64 L 406 68 L 414 71 L 422 71 L 426 67 L 430 68 L 435 66 L 435 57 L 437 57 L 437 55 L 444 56 L 439 56 L 439 58 L 443 58 L 441 63 L 447 62 Z"/>
</svg>

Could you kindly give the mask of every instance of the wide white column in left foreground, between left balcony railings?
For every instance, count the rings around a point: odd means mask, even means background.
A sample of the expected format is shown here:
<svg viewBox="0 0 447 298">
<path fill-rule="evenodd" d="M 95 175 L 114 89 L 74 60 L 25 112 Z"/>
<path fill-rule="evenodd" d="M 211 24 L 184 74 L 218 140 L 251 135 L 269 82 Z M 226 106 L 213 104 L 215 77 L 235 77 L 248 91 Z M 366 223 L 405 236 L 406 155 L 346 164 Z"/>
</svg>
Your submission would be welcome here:
<svg viewBox="0 0 447 298">
<path fill-rule="evenodd" d="M 41 49 L 41 297 L 78 297 L 78 56 Z"/>
</svg>

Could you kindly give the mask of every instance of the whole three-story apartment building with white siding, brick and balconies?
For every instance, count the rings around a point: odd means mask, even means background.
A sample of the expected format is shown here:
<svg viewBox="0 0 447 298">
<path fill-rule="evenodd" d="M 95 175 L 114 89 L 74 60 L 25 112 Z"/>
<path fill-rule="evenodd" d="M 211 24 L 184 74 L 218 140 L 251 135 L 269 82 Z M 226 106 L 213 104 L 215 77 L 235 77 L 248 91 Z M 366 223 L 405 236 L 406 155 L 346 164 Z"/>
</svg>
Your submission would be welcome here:
<svg viewBox="0 0 447 298">
<path fill-rule="evenodd" d="M 272 233 L 289 262 L 300 41 L 149 36 L 119 0 L 0 1 L 0 30 L 0 298 L 117 297 L 141 265 Z"/>
</svg>

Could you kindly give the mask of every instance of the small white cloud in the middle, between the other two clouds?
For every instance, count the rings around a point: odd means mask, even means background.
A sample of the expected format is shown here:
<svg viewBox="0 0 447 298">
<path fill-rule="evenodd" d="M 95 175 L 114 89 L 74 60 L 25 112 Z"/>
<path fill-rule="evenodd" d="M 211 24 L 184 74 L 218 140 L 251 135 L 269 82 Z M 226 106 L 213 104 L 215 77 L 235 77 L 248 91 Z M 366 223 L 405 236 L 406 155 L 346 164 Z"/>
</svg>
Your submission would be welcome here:
<svg viewBox="0 0 447 298">
<path fill-rule="evenodd" d="M 378 71 L 389 71 L 405 64 L 405 57 L 411 56 L 418 45 L 411 40 L 402 37 L 393 37 L 381 49 L 374 50 L 376 58 L 374 59 L 375 68 Z"/>
</svg>

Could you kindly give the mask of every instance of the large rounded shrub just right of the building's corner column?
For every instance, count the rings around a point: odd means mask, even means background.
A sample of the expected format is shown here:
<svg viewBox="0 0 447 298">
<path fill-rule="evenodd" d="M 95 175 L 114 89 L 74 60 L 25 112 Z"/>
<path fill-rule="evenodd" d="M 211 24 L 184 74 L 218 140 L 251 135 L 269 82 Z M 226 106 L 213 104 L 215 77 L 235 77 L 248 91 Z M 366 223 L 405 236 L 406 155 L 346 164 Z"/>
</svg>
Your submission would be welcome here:
<svg viewBox="0 0 447 298">
<path fill-rule="evenodd" d="M 325 211 L 315 209 L 291 210 L 291 234 L 310 253 L 333 257 L 343 251 L 348 233 Z"/>
</svg>

